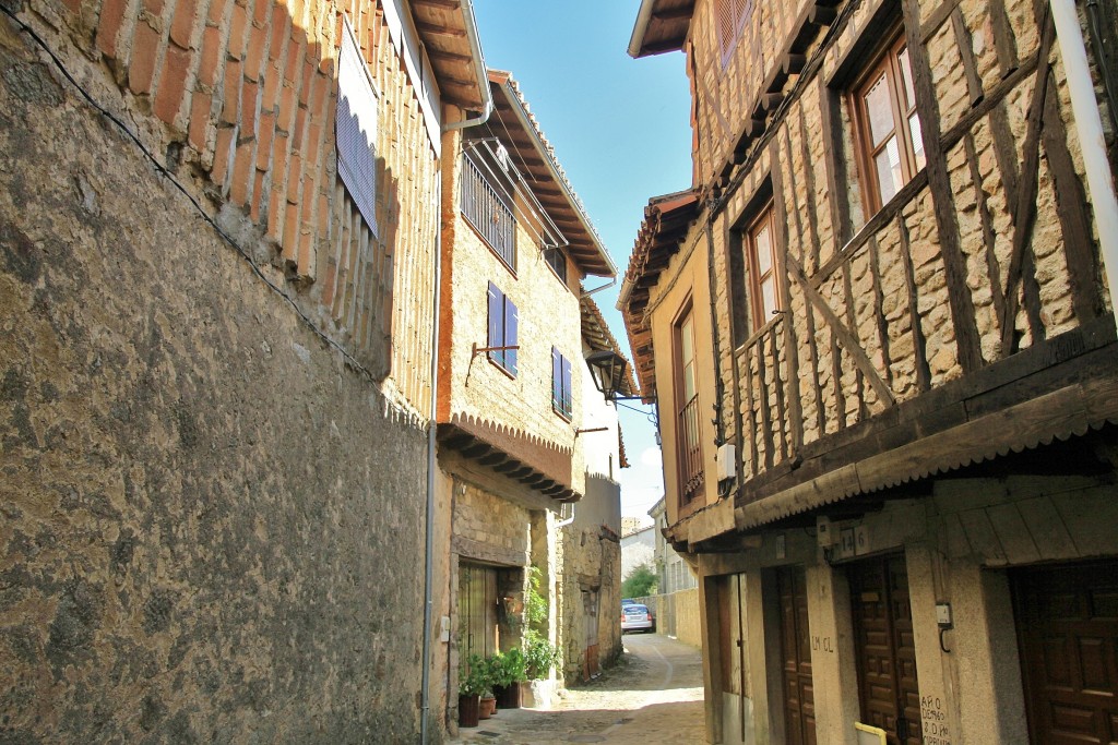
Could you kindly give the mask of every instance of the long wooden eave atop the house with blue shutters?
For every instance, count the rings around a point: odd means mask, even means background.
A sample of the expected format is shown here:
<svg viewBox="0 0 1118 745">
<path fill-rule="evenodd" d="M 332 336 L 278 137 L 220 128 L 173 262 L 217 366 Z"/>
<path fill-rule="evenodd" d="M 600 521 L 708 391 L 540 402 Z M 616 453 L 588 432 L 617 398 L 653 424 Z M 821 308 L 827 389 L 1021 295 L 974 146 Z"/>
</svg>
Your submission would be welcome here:
<svg viewBox="0 0 1118 745">
<path fill-rule="evenodd" d="M 489 120 L 490 132 L 509 149 L 514 165 L 521 171 L 540 207 L 567 239 L 563 250 L 582 275 L 616 276 L 617 268 L 567 181 L 551 145 L 529 113 L 512 76 L 502 70 L 490 70 L 490 86 L 494 104 Z"/>
</svg>

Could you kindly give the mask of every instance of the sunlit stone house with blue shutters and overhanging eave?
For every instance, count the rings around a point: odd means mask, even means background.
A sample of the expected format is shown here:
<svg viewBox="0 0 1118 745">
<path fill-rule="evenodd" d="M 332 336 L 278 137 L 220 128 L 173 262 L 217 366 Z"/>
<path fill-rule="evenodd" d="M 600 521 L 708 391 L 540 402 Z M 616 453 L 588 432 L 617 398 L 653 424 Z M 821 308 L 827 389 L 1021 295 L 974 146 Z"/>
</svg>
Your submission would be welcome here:
<svg viewBox="0 0 1118 745">
<path fill-rule="evenodd" d="M 443 174 L 437 494 L 449 520 L 436 608 L 448 633 L 436 663 L 452 727 L 470 656 L 521 644 L 533 567 L 544 634 L 565 653 L 552 685 L 597 665 L 603 646 L 587 619 L 616 586 L 600 526 L 571 519 L 608 519 L 618 499 L 589 455 L 619 467 L 616 412 L 598 422 L 605 404 L 586 400 L 582 360 L 598 343 L 585 328 L 582 280 L 615 268 L 517 83 L 490 70 L 489 84 L 490 118 L 444 136 L 455 159 Z M 590 421 L 596 431 L 584 431 Z"/>
</svg>

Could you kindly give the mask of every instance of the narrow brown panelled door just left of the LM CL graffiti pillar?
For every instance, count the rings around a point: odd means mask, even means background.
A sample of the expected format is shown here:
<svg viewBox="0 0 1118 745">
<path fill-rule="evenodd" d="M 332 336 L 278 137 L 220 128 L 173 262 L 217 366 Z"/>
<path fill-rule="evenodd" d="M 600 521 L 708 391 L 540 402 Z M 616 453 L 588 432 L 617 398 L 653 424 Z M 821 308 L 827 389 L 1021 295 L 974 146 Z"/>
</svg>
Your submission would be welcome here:
<svg viewBox="0 0 1118 745">
<path fill-rule="evenodd" d="M 776 575 L 780 598 L 780 662 L 784 674 L 784 722 L 788 745 L 815 744 L 812 690 L 812 639 L 807 625 L 804 569 L 781 566 Z"/>
</svg>

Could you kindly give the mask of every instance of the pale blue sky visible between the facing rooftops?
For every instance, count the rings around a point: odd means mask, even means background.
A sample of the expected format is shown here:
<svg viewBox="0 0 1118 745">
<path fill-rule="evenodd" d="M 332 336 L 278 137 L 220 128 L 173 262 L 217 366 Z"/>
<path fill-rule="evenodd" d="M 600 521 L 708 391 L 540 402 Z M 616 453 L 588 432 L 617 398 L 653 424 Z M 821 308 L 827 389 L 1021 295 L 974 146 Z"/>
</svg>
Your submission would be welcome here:
<svg viewBox="0 0 1118 745">
<path fill-rule="evenodd" d="M 617 265 L 596 294 L 628 355 L 615 309 L 650 197 L 691 185 L 690 96 L 682 52 L 626 52 L 639 0 L 474 0 L 489 67 L 512 73 L 556 157 Z M 590 277 L 588 287 L 603 280 Z M 660 449 L 643 413 L 622 410 L 632 467 L 622 514 L 644 515 L 663 495 Z"/>
</svg>

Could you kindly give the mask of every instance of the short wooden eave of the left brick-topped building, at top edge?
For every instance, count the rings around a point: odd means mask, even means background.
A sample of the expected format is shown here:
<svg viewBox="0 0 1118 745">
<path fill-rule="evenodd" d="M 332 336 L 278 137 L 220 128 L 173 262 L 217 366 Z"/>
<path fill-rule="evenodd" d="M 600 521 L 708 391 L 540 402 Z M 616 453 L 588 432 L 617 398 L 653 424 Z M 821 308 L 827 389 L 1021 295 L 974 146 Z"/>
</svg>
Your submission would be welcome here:
<svg viewBox="0 0 1118 745">
<path fill-rule="evenodd" d="M 487 82 L 479 79 L 484 60 L 474 60 L 470 44 L 465 13 L 473 11 L 459 0 L 413 0 L 410 4 L 443 98 L 467 111 L 481 109 L 482 86 Z"/>
</svg>

